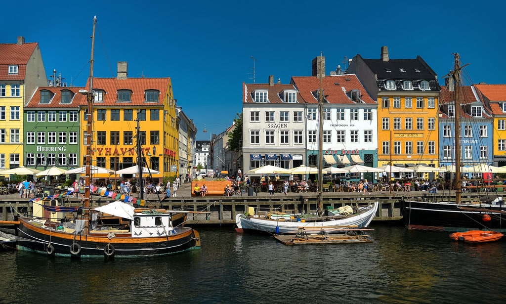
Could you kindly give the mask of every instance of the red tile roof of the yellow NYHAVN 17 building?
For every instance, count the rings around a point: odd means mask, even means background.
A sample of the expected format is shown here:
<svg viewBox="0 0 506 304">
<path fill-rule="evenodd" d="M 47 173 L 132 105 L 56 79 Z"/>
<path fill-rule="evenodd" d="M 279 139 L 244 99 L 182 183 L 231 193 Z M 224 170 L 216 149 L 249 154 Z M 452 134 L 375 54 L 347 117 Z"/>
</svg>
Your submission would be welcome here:
<svg viewBox="0 0 506 304">
<path fill-rule="evenodd" d="M 90 87 L 90 80 L 86 84 L 86 87 Z M 105 94 L 103 96 L 103 102 L 95 102 L 95 106 L 159 106 L 162 105 L 165 99 L 167 89 L 171 85 L 171 78 L 93 78 L 93 89 L 103 90 Z M 117 102 L 117 91 L 118 90 L 130 90 L 132 91 L 131 102 Z M 146 90 L 157 90 L 160 92 L 158 96 L 158 102 L 146 102 L 144 92 Z"/>
</svg>

